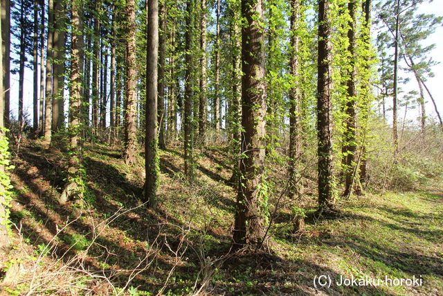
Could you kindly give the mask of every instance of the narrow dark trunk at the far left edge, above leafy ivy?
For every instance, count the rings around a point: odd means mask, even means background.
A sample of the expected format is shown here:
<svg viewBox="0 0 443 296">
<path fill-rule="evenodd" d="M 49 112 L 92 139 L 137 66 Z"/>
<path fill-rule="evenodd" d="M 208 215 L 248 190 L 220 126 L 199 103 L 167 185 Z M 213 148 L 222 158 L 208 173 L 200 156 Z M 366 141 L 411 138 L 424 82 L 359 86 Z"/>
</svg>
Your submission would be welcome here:
<svg viewBox="0 0 443 296">
<path fill-rule="evenodd" d="M 1 0 L 1 55 L 2 55 L 2 79 L 4 95 L 2 98 L 3 123 L 6 128 L 9 128 L 9 113 L 10 113 L 10 0 Z"/>
</svg>

